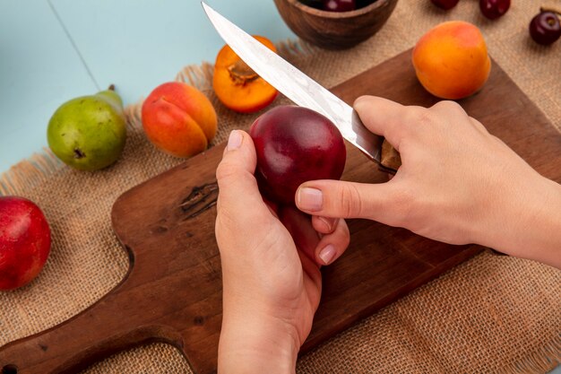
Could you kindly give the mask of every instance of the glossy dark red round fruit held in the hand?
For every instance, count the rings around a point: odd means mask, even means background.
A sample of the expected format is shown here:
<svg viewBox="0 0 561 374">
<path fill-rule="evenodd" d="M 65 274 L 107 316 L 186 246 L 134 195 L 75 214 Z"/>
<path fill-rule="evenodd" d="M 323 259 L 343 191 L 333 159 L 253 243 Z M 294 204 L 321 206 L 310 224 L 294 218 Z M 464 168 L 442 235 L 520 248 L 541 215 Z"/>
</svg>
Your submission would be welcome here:
<svg viewBox="0 0 561 374">
<path fill-rule="evenodd" d="M 263 196 L 294 204 L 307 180 L 339 179 L 347 158 L 341 133 L 311 109 L 279 106 L 258 117 L 249 130 L 257 152 L 255 178 Z"/>
</svg>

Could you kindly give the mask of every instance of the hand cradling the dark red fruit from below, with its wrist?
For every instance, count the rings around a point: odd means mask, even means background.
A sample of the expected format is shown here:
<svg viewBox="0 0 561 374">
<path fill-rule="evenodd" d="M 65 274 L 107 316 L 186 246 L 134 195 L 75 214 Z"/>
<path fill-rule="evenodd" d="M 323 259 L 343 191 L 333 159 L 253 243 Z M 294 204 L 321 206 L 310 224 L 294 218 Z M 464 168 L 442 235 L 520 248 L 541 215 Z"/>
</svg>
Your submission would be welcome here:
<svg viewBox="0 0 561 374">
<path fill-rule="evenodd" d="M 252 139 L 230 134 L 216 171 L 223 282 L 219 372 L 294 372 L 321 295 L 320 264 L 349 244 L 344 220 L 263 202 Z"/>
</svg>

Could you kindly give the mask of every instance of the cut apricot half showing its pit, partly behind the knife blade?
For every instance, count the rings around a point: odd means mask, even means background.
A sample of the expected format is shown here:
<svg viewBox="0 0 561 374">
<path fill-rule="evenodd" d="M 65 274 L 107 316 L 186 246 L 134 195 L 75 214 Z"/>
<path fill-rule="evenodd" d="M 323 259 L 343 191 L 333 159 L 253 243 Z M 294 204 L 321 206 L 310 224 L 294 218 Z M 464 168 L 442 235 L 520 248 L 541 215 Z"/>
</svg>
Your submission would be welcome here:
<svg viewBox="0 0 561 374">
<path fill-rule="evenodd" d="M 255 39 L 276 53 L 272 41 L 260 36 Z M 220 49 L 214 64 L 212 87 L 227 108 L 240 113 L 253 113 L 272 103 L 278 91 L 266 83 L 228 45 Z"/>
</svg>

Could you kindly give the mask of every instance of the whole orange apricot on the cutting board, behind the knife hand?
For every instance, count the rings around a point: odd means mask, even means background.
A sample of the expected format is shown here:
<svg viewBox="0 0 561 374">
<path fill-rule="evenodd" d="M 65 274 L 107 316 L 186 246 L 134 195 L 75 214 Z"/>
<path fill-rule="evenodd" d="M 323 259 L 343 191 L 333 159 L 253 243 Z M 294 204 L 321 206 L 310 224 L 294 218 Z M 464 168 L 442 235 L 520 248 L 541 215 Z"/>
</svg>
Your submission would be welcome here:
<svg viewBox="0 0 561 374">
<path fill-rule="evenodd" d="M 491 59 L 481 31 L 462 21 L 443 22 L 419 39 L 413 49 L 419 82 L 441 99 L 458 100 L 487 82 Z"/>
</svg>

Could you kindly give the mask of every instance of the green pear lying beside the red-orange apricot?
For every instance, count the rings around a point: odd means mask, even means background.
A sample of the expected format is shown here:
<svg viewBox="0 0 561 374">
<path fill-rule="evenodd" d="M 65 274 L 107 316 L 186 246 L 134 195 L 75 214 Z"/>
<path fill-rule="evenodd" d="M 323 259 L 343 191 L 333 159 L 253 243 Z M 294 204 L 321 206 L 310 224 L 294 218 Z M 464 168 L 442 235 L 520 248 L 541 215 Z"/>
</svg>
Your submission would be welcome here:
<svg viewBox="0 0 561 374">
<path fill-rule="evenodd" d="M 66 101 L 48 122 L 48 146 L 61 161 L 78 170 L 111 165 L 121 156 L 125 139 L 123 101 L 113 86 Z"/>
</svg>

